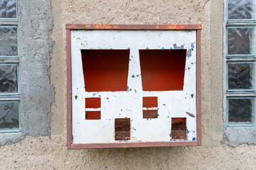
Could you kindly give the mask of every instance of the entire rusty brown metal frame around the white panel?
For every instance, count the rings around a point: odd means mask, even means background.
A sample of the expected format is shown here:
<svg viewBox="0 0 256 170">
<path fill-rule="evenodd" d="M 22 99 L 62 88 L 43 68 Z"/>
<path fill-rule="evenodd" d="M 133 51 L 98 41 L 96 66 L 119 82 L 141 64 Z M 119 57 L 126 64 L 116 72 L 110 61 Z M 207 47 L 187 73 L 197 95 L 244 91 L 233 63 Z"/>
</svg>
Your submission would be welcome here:
<svg viewBox="0 0 256 170">
<path fill-rule="evenodd" d="M 182 147 L 201 146 L 201 25 L 114 25 L 114 24 L 66 24 L 67 52 L 67 147 L 68 149 L 110 148 L 110 147 Z M 122 142 L 73 144 L 72 131 L 72 73 L 70 30 L 196 30 L 196 129 L 197 141 L 193 142 Z"/>
</svg>

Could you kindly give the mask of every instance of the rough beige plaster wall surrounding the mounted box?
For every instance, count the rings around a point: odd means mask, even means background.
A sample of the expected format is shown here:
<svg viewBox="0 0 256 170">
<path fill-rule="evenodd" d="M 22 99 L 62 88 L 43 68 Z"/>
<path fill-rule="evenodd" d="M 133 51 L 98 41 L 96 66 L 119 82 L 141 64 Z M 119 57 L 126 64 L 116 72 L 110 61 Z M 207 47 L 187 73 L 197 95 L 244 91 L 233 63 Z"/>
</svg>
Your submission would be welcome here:
<svg viewBox="0 0 256 170">
<path fill-rule="evenodd" d="M 52 0 L 50 137 L 0 147 L 1 169 L 255 169 L 256 146 L 223 140 L 223 1 Z M 202 24 L 202 147 L 66 149 L 65 23 Z"/>
</svg>

